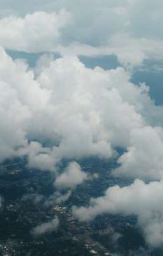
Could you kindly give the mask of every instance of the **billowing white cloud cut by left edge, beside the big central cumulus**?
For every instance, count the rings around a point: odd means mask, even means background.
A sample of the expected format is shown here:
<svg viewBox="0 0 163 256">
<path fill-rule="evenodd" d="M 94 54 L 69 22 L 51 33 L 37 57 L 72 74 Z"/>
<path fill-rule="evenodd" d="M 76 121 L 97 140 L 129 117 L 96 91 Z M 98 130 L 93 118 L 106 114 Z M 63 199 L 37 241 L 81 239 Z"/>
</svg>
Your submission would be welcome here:
<svg viewBox="0 0 163 256">
<path fill-rule="evenodd" d="M 34 81 L 24 62 L 12 61 L 2 48 L 0 56 L 0 161 L 3 161 L 15 157 L 18 148 L 27 146 L 27 122 L 46 104 L 48 91 Z"/>
</svg>

